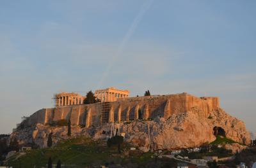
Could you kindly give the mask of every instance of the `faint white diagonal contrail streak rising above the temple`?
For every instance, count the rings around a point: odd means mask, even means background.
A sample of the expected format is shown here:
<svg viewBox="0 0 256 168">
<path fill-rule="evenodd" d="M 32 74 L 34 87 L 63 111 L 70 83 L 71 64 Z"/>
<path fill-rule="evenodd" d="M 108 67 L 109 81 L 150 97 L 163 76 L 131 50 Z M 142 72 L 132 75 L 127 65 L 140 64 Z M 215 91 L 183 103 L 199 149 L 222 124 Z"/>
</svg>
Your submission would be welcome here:
<svg viewBox="0 0 256 168">
<path fill-rule="evenodd" d="M 116 59 L 120 56 L 120 53 L 122 53 L 122 51 L 124 49 L 124 46 L 127 44 L 127 41 L 129 41 L 129 39 L 131 38 L 131 36 L 132 36 L 133 32 L 135 31 L 136 27 L 138 26 L 138 24 L 142 20 L 143 15 L 145 15 L 146 11 L 148 10 L 148 8 L 150 8 L 150 6 L 153 3 L 153 1 L 154 0 L 146 0 L 146 1 L 144 1 L 144 3 L 141 6 L 141 9 L 140 9 L 138 15 L 136 15 L 136 17 L 132 21 L 131 26 L 129 27 L 128 31 L 126 32 L 124 38 L 122 39 L 122 42 L 118 46 L 118 50 L 113 55 L 111 61 L 108 64 L 108 67 L 106 68 L 106 71 L 104 71 L 104 73 L 102 75 L 102 78 L 100 79 L 100 81 L 99 81 L 99 83 L 97 85 L 97 88 L 100 88 L 102 86 L 102 83 L 104 83 L 105 79 L 108 77 L 109 71 L 113 67 L 113 64 L 115 63 Z"/>
</svg>

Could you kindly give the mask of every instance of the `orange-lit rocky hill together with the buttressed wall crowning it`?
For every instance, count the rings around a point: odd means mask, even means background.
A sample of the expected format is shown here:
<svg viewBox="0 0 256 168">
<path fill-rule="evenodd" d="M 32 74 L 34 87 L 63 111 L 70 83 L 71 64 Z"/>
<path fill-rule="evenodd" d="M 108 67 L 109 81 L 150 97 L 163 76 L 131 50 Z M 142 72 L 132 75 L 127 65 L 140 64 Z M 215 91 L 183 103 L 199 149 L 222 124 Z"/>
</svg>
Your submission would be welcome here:
<svg viewBox="0 0 256 168">
<path fill-rule="evenodd" d="M 59 96 L 55 108 L 36 111 L 12 136 L 20 144 L 45 147 L 51 132 L 55 143 L 68 138 L 65 127 L 51 127 L 52 122 L 65 119 L 70 120 L 74 137 L 106 139 L 118 131 L 125 141 L 143 151 L 200 146 L 214 141 L 218 132 L 239 143 L 250 143 L 244 123 L 225 113 L 218 97 L 195 97 L 187 93 L 143 97 L 126 94 L 115 99 L 112 92 L 107 95 L 110 98 L 94 104 L 74 103 Z M 99 93 L 97 96 L 102 97 Z"/>
</svg>

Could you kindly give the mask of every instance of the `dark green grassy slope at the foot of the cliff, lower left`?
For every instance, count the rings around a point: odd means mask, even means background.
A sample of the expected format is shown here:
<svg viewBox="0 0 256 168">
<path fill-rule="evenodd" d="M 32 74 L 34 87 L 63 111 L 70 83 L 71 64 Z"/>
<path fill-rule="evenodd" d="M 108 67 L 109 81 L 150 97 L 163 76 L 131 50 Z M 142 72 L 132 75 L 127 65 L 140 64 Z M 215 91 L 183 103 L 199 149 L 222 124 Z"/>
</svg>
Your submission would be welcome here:
<svg viewBox="0 0 256 168">
<path fill-rule="evenodd" d="M 122 144 L 122 149 L 128 151 L 129 145 Z M 76 167 L 84 167 L 86 165 L 104 165 L 106 163 L 127 164 L 136 162 L 143 164 L 147 162 L 154 162 L 151 158 L 152 153 L 134 153 L 128 155 L 119 155 L 116 146 L 111 148 L 106 147 L 104 141 L 92 141 L 86 137 L 79 137 L 59 143 L 53 148 L 44 148 L 40 150 L 32 150 L 26 155 L 20 157 L 21 167 L 42 167 L 47 164 L 48 158 L 52 157 L 52 164 L 56 164 L 58 159 L 61 164 L 76 165 Z M 19 160 L 13 156 L 8 165 L 14 168 L 19 167 Z"/>
</svg>

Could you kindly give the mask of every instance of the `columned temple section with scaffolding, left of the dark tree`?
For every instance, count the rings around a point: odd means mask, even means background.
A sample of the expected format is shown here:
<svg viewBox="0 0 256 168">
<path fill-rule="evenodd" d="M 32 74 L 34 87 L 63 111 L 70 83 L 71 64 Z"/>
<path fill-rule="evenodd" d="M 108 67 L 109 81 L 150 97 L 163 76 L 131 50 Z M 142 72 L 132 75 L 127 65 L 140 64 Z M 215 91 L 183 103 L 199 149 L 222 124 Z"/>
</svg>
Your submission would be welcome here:
<svg viewBox="0 0 256 168">
<path fill-rule="evenodd" d="M 74 92 L 61 92 L 59 94 L 55 94 L 54 99 L 56 102 L 56 106 L 70 106 L 83 104 L 85 97 Z"/>
</svg>

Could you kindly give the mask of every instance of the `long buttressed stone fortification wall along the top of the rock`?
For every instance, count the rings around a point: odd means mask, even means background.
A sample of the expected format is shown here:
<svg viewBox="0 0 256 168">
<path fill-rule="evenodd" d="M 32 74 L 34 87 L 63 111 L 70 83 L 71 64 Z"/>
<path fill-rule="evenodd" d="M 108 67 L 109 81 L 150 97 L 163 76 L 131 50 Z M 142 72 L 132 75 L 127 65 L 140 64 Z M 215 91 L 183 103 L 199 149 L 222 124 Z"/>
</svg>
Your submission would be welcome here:
<svg viewBox="0 0 256 168">
<path fill-rule="evenodd" d="M 209 116 L 211 111 L 220 108 L 218 97 L 195 97 L 186 93 L 131 97 L 116 102 L 81 104 L 40 109 L 29 117 L 29 124 L 51 123 L 70 120 L 72 125 L 99 126 L 103 123 L 122 122 L 137 119 L 150 119 L 157 116 L 170 118 L 198 107 L 202 115 Z"/>
</svg>

